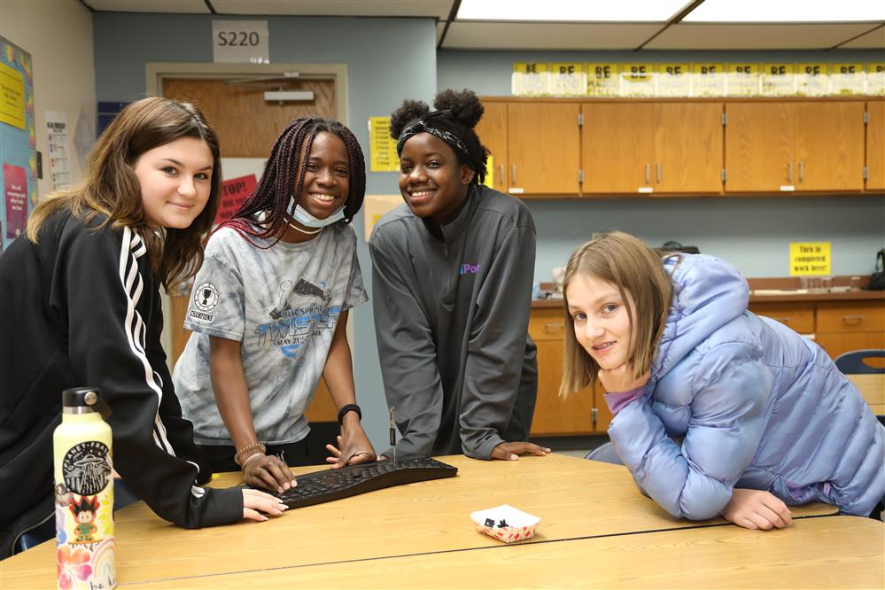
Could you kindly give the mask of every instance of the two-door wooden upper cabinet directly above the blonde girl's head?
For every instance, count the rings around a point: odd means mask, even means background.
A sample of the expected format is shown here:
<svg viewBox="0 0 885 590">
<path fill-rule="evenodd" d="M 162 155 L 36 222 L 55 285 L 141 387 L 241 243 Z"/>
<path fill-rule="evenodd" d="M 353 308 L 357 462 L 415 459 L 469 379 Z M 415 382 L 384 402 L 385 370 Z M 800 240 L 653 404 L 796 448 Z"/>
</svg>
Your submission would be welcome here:
<svg viewBox="0 0 885 590">
<path fill-rule="evenodd" d="M 586 103 L 584 193 L 722 190 L 722 104 Z"/>
</svg>

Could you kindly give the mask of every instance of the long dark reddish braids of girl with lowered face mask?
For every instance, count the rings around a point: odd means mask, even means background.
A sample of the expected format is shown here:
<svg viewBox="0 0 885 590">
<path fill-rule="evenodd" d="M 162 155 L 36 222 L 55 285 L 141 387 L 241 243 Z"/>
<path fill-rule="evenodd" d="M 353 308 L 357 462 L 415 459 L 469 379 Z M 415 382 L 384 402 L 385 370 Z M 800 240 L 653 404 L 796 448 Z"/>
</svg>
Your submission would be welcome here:
<svg viewBox="0 0 885 590">
<path fill-rule="evenodd" d="M 276 138 L 274 147 L 270 150 L 268 164 L 264 167 L 264 173 L 255 190 L 252 190 L 252 194 L 245 199 L 237 213 L 219 228 L 227 226 L 235 229 L 252 245 L 258 246 L 250 239 L 252 237 L 264 239 L 276 237 L 271 245 L 276 244 L 283 234 L 280 229 L 286 223 L 289 199 L 295 195 L 297 203 L 301 198 L 307 160 L 310 159 L 310 148 L 314 144 L 316 134 L 322 131 L 340 137 L 345 144 L 350 179 L 344 206 L 344 221 L 347 223 L 353 221 L 353 216 L 360 211 L 362 200 L 366 196 L 366 160 L 363 158 L 360 143 L 353 136 L 353 132 L 337 120 L 313 116 L 292 120 L 283 129 L 283 133 Z M 303 153 L 302 146 L 304 146 Z M 292 190 L 293 186 L 295 190 Z M 259 220 L 262 213 L 264 217 Z M 263 247 L 269 248 L 271 245 Z"/>
</svg>

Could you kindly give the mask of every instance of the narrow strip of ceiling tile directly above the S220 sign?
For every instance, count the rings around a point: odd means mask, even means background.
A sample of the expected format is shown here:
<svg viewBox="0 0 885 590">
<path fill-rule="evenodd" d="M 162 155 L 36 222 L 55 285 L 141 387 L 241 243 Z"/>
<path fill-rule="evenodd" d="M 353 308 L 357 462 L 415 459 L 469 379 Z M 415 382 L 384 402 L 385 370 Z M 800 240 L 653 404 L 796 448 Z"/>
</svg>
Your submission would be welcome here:
<svg viewBox="0 0 885 590">
<path fill-rule="evenodd" d="M 454 0 L 209 0 L 219 14 L 448 19 Z"/>
</svg>

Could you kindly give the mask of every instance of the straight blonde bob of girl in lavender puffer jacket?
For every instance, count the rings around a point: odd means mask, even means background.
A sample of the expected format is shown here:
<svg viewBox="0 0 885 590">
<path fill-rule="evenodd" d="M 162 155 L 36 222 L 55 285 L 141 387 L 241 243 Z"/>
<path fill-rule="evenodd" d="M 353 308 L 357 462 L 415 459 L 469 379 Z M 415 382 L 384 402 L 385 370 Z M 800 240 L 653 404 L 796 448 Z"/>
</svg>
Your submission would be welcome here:
<svg viewBox="0 0 885 590">
<path fill-rule="evenodd" d="M 565 351 L 560 396 L 566 397 L 595 384 L 599 373 L 599 365 L 575 337 L 575 322 L 569 314 L 571 281 L 578 275 L 586 275 L 617 286 L 630 325 L 636 326 L 636 338 L 631 343 L 628 360 L 633 363 L 633 378 L 639 378 L 651 368 L 670 312 L 673 286 L 663 265 L 664 258 L 670 256 L 672 254 L 657 252 L 639 238 L 622 231 L 587 242 L 571 255 L 563 278 Z M 636 309 L 631 306 L 627 293 L 633 297 Z"/>
</svg>

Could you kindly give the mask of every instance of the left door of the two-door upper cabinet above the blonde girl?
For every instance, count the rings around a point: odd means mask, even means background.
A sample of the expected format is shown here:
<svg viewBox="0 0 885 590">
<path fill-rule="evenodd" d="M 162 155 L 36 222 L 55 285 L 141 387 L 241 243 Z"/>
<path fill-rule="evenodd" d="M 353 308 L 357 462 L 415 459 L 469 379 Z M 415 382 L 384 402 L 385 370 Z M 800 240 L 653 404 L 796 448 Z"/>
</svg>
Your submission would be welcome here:
<svg viewBox="0 0 885 590">
<path fill-rule="evenodd" d="M 581 105 L 585 193 L 654 190 L 655 108 L 650 103 Z"/>
</svg>

